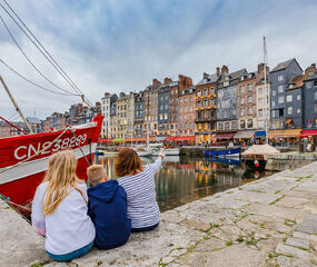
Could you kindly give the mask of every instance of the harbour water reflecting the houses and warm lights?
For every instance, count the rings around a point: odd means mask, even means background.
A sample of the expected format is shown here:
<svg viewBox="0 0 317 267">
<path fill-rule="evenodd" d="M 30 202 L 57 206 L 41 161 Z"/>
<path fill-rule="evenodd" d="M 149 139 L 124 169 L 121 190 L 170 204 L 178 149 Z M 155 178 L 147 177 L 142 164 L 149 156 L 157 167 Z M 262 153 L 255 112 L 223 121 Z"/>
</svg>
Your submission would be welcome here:
<svg viewBox="0 0 317 267">
<path fill-rule="evenodd" d="M 141 159 L 143 164 L 155 161 Z M 116 157 L 99 157 L 97 162 L 105 166 L 110 179 L 116 179 Z M 157 199 L 165 211 L 271 174 L 247 169 L 236 159 L 167 157 L 156 176 Z"/>
</svg>

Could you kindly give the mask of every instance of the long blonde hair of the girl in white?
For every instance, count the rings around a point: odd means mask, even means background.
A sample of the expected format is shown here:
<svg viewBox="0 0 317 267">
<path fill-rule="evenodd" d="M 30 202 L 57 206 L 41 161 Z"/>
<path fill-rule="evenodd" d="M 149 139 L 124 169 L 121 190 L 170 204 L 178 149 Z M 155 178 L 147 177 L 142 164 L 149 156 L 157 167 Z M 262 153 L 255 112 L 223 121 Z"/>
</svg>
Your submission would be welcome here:
<svg viewBox="0 0 317 267">
<path fill-rule="evenodd" d="M 44 216 L 52 214 L 72 189 L 79 191 L 87 201 L 82 191 L 77 187 L 79 179 L 76 168 L 77 160 L 71 150 L 59 151 L 50 156 L 49 168 L 43 179 L 43 182 L 48 181 L 43 199 Z"/>
</svg>

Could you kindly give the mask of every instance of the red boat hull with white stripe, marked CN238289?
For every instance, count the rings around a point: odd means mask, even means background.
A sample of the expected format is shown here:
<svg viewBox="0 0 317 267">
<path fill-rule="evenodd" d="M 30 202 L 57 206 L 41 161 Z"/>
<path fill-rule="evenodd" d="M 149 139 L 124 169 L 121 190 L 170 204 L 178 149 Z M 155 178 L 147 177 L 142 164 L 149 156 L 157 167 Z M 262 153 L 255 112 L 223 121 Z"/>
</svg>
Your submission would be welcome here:
<svg viewBox="0 0 317 267">
<path fill-rule="evenodd" d="M 49 156 L 72 149 L 78 160 L 77 175 L 87 179 L 86 169 L 98 142 L 103 117 L 72 131 L 42 132 L 0 139 L 0 194 L 19 205 L 29 204 L 48 168 Z M 43 152 L 37 155 L 39 151 Z"/>
</svg>

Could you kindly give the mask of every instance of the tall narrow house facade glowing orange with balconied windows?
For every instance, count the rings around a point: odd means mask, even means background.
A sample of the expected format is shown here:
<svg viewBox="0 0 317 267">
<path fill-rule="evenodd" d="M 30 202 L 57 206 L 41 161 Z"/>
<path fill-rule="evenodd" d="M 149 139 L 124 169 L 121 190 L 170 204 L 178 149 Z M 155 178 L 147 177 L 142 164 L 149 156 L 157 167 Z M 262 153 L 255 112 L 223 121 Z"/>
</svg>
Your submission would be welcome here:
<svg viewBox="0 0 317 267">
<path fill-rule="evenodd" d="M 217 81 L 220 77 L 220 68 L 217 72 L 208 75 L 204 72 L 202 80 L 196 85 L 196 142 L 210 142 L 217 123 Z"/>
</svg>

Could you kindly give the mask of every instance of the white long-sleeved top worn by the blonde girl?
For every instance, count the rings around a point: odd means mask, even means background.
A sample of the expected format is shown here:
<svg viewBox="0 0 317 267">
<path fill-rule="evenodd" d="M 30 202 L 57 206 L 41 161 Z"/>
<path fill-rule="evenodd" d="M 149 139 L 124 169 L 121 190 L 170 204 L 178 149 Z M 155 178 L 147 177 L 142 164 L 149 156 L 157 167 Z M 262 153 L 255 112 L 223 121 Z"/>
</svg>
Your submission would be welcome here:
<svg viewBox="0 0 317 267">
<path fill-rule="evenodd" d="M 88 207 L 79 191 L 72 189 L 52 214 L 43 216 L 47 186 L 48 182 L 43 182 L 37 188 L 31 216 L 36 231 L 47 236 L 47 251 L 65 255 L 93 241 L 95 226 L 87 215 Z M 88 200 L 86 184 L 78 184 L 78 188 Z"/>
</svg>

